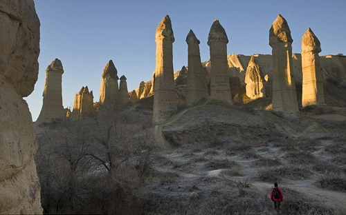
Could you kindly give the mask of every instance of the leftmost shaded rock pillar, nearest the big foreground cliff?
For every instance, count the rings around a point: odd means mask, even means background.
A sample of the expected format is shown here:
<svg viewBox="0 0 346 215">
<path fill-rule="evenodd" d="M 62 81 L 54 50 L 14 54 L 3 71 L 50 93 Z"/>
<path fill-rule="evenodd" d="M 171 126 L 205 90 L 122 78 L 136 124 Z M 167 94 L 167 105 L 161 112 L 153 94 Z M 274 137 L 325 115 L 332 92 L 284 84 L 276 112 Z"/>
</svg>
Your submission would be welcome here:
<svg viewBox="0 0 346 215">
<path fill-rule="evenodd" d="M 59 59 L 52 61 L 46 68 L 46 83 L 44 84 L 43 104 L 36 123 L 50 122 L 52 119 L 66 117 L 62 105 L 62 62 Z"/>
</svg>

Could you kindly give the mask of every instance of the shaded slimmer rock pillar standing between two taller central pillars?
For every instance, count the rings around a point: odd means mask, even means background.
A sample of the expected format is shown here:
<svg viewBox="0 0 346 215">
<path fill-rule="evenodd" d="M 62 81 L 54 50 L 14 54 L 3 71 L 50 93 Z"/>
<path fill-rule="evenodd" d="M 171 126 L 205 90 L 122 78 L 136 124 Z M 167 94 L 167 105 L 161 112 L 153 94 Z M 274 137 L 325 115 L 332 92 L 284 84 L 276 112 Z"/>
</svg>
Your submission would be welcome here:
<svg viewBox="0 0 346 215">
<path fill-rule="evenodd" d="M 186 80 L 186 98 L 185 103 L 188 106 L 195 105 L 200 99 L 209 96 L 206 73 L 201 63 L 201 55 L 199 53 L 199 39 L 194 32 L 190 30 L 188 37 L 188 76 Z"/>
</svg>

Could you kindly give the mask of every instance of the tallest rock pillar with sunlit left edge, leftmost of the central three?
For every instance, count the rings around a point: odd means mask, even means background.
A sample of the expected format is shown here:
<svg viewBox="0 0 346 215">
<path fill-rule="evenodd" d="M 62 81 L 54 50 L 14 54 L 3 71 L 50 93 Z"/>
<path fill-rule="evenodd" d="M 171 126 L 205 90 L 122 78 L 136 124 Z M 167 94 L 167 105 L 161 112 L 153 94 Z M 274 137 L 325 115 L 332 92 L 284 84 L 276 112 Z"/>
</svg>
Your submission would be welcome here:
<svg viewBox="0 0 346 215">
<path fill-rule="evenodd" d="M 173 75 L 174 34 L 166 15 L 156 28 L 156 69 L 154 73 L 153 123 L 161 123 L 177 110 Z"/>
</svg>

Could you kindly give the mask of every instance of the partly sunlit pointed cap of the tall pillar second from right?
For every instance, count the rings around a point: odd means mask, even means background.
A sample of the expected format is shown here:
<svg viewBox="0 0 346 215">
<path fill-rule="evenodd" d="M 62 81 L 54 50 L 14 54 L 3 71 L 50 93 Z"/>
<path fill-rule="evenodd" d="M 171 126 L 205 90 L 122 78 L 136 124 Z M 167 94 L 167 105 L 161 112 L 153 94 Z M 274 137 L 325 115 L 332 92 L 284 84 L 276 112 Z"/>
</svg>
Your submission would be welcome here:
<svg viewBox="0 0 346 215">
<path fill-rule="evenodd" d="M 289 30 L 289 24 L 286 19 L 281 16 L 281 14 L 277 15 L 277 18 L 271 25 L 271 29 L 269 30 L 269 45 L 274 45 L 275 43 L 293 43 L 293 39 L 291 37 L 291 30 Z"/>
</svg>

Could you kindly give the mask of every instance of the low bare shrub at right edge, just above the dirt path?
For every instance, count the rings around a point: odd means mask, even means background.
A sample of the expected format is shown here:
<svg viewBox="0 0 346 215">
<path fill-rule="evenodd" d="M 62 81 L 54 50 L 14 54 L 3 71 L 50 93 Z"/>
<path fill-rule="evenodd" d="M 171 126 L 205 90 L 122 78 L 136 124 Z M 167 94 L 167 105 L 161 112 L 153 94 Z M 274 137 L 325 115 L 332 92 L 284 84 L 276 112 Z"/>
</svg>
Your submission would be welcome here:
<svg viewBox="0 0 346 215">
<path fill-rule="evenodd" d="M 328 190 L 346 191 L 346 178 L 340 175 L 322 176 L 316 185 Z"/>
</svg>

